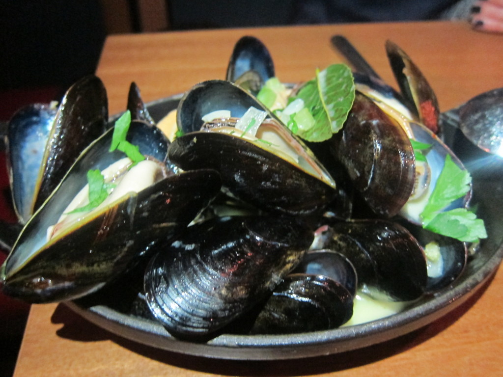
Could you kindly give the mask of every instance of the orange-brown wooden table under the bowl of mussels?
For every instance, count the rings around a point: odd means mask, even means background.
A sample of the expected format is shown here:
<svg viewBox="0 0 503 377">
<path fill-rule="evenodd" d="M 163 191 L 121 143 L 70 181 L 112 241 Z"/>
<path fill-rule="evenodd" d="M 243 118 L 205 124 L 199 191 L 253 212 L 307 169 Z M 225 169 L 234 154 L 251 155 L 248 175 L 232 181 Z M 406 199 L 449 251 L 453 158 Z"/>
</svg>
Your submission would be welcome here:
<svg viewBox="0 0 503 377">
<path fill-rule="evenodd" d="M 330 47 L 333 34 L 347 36 L 396 86 L 384 51 L 385 40 L 393 40 L 423 70 L 442 110 L 503 86 L 503 35 L 447 22 L 112 36 L 97 74 L 107 87 L 114 114 L 125 109 L 132 80 L 144 100 L 151 101 L 205 79 L 223 78 L 233 45 L 242 35 L 263 40 L 282 81 L 309 79 L 316 67 L 344 61 Z M 161 351 L 108 333 L 63 305 L 34 305 L 15 376 L 496 376 L 503 370 L 503 275 L 497 273 L 489 283 L 450 314 L 400 338 L 343 354 L 278 362 L 224 361 Z"/>
</svg>

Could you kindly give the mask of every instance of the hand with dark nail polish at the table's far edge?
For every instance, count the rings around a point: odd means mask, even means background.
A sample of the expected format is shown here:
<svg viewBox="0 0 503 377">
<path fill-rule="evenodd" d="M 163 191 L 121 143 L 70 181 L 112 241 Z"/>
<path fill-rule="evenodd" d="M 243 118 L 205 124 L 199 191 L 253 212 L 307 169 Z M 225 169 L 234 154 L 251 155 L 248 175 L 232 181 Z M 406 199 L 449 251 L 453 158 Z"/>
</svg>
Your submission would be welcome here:
<svg viewBox="0 0 503 377">
<path fill-rule="evenodd" d="M 503 0 L 479 0 L 471 8 L 470 23 L 475 30 L 503 33 Z"/>
</svg>

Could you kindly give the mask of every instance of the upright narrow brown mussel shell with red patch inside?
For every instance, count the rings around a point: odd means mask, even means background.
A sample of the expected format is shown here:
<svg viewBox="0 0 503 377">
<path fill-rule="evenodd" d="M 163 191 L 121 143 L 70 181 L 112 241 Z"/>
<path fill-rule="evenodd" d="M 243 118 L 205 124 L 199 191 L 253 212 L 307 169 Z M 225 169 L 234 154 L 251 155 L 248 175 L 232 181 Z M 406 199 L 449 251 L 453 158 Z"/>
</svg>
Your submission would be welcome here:
<svg viewBox="0 0 503 377">
<path fill-rule="evenodd" d="M 439 104 L 428 80 L 409 56 L 389 40 L 386 41 L 386 53 L 403 98 L 416 109 L 421 123 L 439 133 Z"/>
</svg>

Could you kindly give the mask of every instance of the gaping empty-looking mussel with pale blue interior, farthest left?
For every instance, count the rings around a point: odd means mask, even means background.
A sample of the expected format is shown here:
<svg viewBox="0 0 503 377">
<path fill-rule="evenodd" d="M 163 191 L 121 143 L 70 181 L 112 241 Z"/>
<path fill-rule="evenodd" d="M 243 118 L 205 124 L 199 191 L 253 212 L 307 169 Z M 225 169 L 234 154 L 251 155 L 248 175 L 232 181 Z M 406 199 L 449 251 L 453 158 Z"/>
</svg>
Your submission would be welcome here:
<svg viewBox="0 0 503 377">
<path fill-rule="evenodd" d="M 17 114 L 8 129 L 13 202 L 22 223 L 50 196 L 83 149 L 105 132 L 108 102 L 103 82 L 94 75 L 75 82 L 50 127 L 53 116 L 48 111 L 35 107 L 32 114 Z M 35 156 L 32 147 L 36 147 Z M 40 158 L 38 163 L 34 157 Z"/>
</svg>

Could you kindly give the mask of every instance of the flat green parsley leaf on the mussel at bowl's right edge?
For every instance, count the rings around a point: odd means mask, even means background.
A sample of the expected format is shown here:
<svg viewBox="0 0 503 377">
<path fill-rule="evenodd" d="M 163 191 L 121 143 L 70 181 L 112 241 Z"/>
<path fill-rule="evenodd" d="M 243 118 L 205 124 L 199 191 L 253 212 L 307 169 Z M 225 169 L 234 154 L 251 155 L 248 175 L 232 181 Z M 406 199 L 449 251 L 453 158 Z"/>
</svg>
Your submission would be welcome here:
<svg viewBox="0 0 503 377">
<path fill-rule="evenodd" d="M 474 213 L 465 208 L 444 212 L 452 202 L 468 193 L 470 183 L 468 171 L 459 168 L 451 156 L 447 155 L 432 195 L 421 213 L 423 227 L 466 242 L 486 238 L 484 223 Z"/>
</svg>

